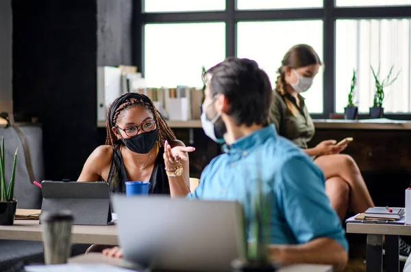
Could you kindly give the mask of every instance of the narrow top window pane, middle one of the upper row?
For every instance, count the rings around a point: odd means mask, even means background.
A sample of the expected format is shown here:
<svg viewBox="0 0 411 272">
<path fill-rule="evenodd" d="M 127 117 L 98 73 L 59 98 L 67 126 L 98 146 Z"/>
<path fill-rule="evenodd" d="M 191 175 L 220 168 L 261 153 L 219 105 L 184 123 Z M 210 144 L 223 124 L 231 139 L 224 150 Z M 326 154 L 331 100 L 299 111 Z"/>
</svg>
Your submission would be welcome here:
<svg viewBox="0 0 411 272">
<path fill-rule="evenodd" d="M 238 10 L 281 10 L 291 8 L 322 8 L 323 0 L 237 0 Z"/>
</svg>

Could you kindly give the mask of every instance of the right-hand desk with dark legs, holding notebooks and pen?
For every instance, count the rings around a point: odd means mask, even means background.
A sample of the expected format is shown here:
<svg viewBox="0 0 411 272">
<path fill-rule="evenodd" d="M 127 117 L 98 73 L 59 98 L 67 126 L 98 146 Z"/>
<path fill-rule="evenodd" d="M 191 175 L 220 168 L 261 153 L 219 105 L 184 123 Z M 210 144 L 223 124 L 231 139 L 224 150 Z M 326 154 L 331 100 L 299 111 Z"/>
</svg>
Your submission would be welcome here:
<svg viewBox="0 0 411 272">
<path fill-rule="evenodd" d="M 382 236 L 385 235 L 385 271 L 399 271 L 399 235 L 411 236 L 411 225 L 347 223 L 347 232 L 367 234 L 367 272 L 382 271 Z"/>
</svg>

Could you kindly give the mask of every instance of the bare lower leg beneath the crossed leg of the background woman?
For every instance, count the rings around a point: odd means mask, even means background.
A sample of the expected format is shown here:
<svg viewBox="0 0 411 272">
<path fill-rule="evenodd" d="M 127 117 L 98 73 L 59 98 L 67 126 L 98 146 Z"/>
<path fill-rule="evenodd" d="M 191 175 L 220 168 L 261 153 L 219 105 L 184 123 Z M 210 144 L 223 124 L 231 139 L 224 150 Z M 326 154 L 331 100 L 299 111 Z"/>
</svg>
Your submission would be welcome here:
<svg viewBox="0 0 411 272">
<path fill-rule="evenodd" d="M 349 205 L 349 185 L 339 176 L 333 176 L 325 180 L 325 194 L 329 202 L 336 210 L 338 217 L 343 221 Z"/>
</svg>

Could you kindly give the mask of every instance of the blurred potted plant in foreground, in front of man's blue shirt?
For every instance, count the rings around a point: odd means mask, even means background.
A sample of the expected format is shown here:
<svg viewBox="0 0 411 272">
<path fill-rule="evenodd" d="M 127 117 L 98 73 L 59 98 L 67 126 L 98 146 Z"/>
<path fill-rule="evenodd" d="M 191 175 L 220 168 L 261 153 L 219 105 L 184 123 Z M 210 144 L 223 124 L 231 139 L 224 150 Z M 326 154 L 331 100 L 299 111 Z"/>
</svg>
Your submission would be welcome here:
<svg viewBox="0 0 411 272">
<path fill-rule="evenodd" d="M 260 175 L 259 175 L 260 176 Z M 252 211 L 249 221 L 249 236 L 252 241 L 247 243 L 247 256 L 245 259 L 232 261 L 233 271 L 267 271 L 273 272 L 279 269 L 278 262 L 269 260 L 267 241 L 270 231 L 271 194 L 262 193 L 262 180 L 258 178 L 257 193 L 252 195 Z"/>
</svg>

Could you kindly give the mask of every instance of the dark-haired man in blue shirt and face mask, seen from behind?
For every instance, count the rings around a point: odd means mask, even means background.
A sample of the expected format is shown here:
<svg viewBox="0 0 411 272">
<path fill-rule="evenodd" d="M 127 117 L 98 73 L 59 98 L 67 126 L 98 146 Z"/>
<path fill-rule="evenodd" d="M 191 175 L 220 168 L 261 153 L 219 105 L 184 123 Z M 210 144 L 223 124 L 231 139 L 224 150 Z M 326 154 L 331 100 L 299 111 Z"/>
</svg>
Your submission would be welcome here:
<svg viewBox="0 0 411 272">
<path fill-rule="evenodd" d="M 199 187 L 192 193 L 184 182 L 170 178 L 171 195 L 237 200 L 249 220 L 249 195 L 257 191 L 260 179 L 263 193 L 273 198 L 271 258 L 284 264 L 345 266 L 347 240 L 325 195 L 323 173 L 266 121 L 273 95 L 267 74 L 256 62 L 229 57 L 205 76 L 201 124 L 214 141 L 225 141 L 224 154 L 203 170 Z"/>
</svg>

